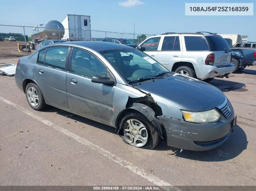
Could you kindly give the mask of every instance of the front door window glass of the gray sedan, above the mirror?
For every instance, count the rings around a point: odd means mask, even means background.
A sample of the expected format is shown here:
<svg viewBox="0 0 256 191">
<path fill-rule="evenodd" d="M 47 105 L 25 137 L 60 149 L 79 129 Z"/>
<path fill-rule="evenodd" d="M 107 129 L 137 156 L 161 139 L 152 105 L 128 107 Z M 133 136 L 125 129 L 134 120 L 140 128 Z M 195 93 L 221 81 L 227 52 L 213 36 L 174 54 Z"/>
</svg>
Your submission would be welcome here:
<svg viewBox="0 0 256 191">
<path fill-rule="evenodd" d="M 91 53 L 74 48 L 72 53 L 71 72 L 87 78 L 92 78 L 93 76 L 107 75 L 107 68 Z"/>
</svg>

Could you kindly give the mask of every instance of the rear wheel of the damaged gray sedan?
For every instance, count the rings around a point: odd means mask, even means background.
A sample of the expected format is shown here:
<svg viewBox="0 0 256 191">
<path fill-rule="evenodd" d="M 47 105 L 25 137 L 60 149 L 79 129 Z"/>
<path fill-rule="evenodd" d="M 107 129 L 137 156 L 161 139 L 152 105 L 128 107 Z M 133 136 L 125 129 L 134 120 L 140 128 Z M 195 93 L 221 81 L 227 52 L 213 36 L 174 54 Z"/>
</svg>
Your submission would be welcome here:
<svg viewBox="0 0 256 191">
<path fill-rule="evenodd" d="M 39 87 L 34 83 L 28 83 L 26 86 L 26 98 L 33 110 L 43 110 L 47 105 Z"/>
</svg>

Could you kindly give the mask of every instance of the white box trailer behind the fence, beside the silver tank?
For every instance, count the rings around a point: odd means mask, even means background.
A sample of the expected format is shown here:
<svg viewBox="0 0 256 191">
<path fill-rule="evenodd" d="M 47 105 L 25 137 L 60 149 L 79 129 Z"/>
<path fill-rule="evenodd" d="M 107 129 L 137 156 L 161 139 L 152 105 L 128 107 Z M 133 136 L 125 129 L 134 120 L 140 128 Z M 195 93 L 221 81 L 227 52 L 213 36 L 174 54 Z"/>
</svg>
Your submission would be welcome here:
<svg viewBox="0 0 256 191">
<path fill-rule="evenodd" d="M 61 23 L 65 29 L 62 40 L 91 40 L 90 16 L 68 14 Z"/>
</svg>

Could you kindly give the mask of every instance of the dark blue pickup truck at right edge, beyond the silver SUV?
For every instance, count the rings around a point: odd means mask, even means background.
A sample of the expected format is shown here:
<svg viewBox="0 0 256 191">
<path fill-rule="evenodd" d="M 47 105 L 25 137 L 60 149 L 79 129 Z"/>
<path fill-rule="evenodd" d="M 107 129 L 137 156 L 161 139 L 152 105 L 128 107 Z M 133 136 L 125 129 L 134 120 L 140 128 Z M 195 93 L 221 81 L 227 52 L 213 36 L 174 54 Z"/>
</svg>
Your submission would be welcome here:
<svg viewBox="0 0 256 191">
<path fill-rule="evenodd" d="M 256 65 L 256 43 L 248 42 L 248 43 L 236 43 L 232 46 L 232 40 L 229 38 L 224 38 L 229 46 L 231 47 L 232 59 L 231 62 L 234 64 L 233 72 L 241 71 L 246 66 Z M 247 45 L 249 44 L 249 45 Z M 237 45 L 237 46 L 235 46 Z M 241 47 L 240 47 L 241 46 Z M 251 47 L 245 47 L 251 46 Z"/>
</svg>

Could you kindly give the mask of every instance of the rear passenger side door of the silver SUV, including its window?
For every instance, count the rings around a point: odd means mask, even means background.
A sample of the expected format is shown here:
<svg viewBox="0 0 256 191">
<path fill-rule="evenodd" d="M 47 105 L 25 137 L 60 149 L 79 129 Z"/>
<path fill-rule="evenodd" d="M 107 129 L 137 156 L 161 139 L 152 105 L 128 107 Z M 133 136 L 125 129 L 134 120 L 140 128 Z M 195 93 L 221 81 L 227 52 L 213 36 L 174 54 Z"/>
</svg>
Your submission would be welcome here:
<svg viewBox="0 0 256 191">
<path fill-rule="evenodd" d="M 168 35 L 162 37 L 163 40 L 160 43 L 160 49 L 157 55 L 157 61 L 171 70 L 175 62 L 181 61 L 181 35 Z"/>
</svg>

